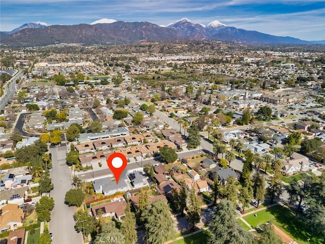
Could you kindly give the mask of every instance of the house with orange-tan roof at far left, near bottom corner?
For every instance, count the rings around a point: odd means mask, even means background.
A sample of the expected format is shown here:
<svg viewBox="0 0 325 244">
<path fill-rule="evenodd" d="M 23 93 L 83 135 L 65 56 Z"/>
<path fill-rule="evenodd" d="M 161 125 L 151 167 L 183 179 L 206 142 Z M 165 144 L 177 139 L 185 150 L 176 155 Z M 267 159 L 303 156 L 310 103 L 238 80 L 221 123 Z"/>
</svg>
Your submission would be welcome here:
<svg viewBox="0 0 325 244">
<path fill-rule="evenodd" d="M 23 225 L 24 211 L 18 204 L 7 204 L 1 208 L 0 232 L 14 230 Z"/>
</svg>

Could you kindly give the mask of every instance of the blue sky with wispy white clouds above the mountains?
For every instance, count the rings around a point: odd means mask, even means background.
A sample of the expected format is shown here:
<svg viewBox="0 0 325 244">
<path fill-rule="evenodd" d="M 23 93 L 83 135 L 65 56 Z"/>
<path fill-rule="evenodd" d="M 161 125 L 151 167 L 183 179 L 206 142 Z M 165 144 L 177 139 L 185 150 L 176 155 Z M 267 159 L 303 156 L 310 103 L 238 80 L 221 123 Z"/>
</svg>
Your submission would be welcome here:
<svg viewBox="0 0 325 244">
<path fill-rule="evenodd" d="M 91 23 L 108 18 L 167 25 L 186 17 L 276 36 L 325 40 L 325 0 L 1 0 L 0 31 L 24 23 Z"/>
</svg>

